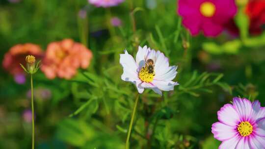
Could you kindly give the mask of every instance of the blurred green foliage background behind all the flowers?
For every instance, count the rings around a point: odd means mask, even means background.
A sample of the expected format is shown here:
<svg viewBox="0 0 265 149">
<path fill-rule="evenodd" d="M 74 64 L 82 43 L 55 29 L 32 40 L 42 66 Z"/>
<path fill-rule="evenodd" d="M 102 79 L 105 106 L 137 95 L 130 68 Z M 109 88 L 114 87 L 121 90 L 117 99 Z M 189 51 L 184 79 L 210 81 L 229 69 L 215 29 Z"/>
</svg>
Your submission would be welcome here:
<svg viewBox="0 0 265 149">
<path fill-rule="evenodd" d="M 65 38 L 93 52 L 89 68 L 70 80 L 34 75 L 36 149 L 124 149 L 137 91 L 120 78 L 119 54 L 135 55 L 138 45 L 169 56 L 180 85 L 162 97 L 150 90 L 140 96 L 132 149 L 217 149 L 211 126 L 223 104 L 240 96 L 265 106 L 265 34 L 244 35 L 243 19 L 239 37 L 191 37 L 176 0 L 125 0 L 111 8 L 87 0 L 10 1 L 0 0 L 0 61 L 16 44 L 45 50 Z M 112 17 L 122 25 L 111 25 Z M 28 78 L 17 84 L 0 68 L 0 149 L 31 147 Z"/>
</svg>

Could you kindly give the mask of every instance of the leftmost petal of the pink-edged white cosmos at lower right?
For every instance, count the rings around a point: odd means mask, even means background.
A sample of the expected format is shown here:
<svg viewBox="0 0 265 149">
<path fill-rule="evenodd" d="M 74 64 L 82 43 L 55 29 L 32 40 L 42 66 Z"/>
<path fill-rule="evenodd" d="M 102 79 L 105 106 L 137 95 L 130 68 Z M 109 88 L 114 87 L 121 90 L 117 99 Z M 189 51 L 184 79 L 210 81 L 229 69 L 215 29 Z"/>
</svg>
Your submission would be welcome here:
<svg viewBox="0 0 265 149">
<path fill-rule="evenodd" d="M 213 137 L 219 141 L 225 141 L 237 135 L 235 127 L 220 122 L 212 124 L 212 133 Z"/>
</svg>

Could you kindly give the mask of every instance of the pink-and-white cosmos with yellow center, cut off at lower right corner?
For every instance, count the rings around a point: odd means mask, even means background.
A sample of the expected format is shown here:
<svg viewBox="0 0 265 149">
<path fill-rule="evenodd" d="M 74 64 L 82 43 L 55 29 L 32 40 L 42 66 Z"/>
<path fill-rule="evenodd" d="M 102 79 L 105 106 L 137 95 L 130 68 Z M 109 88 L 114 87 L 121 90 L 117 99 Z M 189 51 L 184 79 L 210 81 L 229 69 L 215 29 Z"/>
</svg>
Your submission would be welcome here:
<svg viewBox="0 0 265 149">
<path fill-rule="evenodd" d="M 234 98 L 217 112 L 219 122 L 212 124 L 219 149 L 264 149 L 265 107 L 259 101 Z"/>
</svg>

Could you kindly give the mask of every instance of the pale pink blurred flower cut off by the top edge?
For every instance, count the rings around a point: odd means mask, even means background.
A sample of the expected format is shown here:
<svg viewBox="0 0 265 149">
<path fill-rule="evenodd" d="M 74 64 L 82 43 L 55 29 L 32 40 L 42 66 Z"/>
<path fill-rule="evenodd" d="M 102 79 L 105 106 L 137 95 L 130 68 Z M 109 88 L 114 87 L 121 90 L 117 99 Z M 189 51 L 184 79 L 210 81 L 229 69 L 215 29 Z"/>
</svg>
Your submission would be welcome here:
<svg viewBox="0 0 265 149">
<path fill-rule="evenodd" d="M 88 0 L 89 3 L 95 5 L 96 7 L 112 7 L 117 6 L 124 0 Z"/>
</svg>

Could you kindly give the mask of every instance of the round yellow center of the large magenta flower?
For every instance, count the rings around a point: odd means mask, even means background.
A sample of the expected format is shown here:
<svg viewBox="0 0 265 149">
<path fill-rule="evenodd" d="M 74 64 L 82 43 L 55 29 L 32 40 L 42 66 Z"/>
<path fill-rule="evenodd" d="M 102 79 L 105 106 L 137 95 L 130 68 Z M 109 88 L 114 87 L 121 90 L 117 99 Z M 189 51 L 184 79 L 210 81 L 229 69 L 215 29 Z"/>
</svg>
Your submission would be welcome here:
<svg viewBox="0 0 265 149">
<path fill-rule="evenodd" d="M 212 17 L 215 13 L 215 5 L 210 1 L 205 1 L 200 6 L 200 12 L 205 17 Z"/>
</svg>

